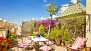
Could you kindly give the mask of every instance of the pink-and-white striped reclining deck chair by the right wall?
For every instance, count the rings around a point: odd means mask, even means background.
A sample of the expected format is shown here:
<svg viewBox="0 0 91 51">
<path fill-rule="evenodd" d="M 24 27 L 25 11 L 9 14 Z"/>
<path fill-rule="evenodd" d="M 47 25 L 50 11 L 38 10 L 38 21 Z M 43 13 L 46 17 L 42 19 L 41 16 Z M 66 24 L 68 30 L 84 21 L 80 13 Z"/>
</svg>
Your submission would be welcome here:
<svg viewBox="0 0 91 51">
<path fill-rule="evenodd" d="M 67 51 L 81 51 L 85 44 L 86 44 L 87 39 L 83 37 L 77 37 L 76 40 L 74 41 L 73 45 L 71 47 L 67 47 Z"/>
</svg>

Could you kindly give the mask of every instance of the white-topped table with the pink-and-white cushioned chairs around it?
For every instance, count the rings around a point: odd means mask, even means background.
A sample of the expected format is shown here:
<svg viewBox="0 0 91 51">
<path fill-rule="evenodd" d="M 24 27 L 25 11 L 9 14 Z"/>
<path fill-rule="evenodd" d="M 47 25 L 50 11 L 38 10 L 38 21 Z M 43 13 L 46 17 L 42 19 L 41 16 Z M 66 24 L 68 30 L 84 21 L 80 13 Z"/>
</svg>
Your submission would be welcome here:
<svg viewBox="0 0 91 51">
<path fill-rule="evenodd" d="M 40 35 L 29 36 L 28 38 L 29 39 L 25 40 L 23 43 L 18 44 L 18 48 L 23 48 L 23 51 L 26 51 L 29 47 L 33 47 L 35 51 L 53 51 L 53 48 L 50 47 L 50 45 L 54 43 L 53 41 L 50 41 L 49 39 Z"/>
</svg>

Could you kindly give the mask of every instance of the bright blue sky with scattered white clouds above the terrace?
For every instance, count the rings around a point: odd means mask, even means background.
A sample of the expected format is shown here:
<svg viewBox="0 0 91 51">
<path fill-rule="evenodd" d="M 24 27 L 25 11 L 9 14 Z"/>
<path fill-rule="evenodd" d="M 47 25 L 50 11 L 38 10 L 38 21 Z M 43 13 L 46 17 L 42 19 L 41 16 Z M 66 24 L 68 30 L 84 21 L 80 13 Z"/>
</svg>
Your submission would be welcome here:
<svg viewBox="0 0 91 51">
<path fill-rule="evenodd" d="M 50 1 L 55 1 L 61 7 L 58 16 L 66 8 L 62 5 L 76 3 L 77 0 L 0 0 L 0 18 L 13 23 L 48 18 L 47 6 Z M 86 0 L 81 0 L 81 3 L 86 6 Z"/>
</svg>

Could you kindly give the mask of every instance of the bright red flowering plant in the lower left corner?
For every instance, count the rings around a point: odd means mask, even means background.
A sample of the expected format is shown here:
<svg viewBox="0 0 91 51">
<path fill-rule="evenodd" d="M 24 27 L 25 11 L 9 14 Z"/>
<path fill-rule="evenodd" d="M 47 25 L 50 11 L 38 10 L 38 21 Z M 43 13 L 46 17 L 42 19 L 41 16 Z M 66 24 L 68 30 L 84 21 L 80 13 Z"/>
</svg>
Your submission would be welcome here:
<svg viewBox="0 0 91 51">
<path fill-rule="evenodd" d="M 7 47 L 11 47 L 10 40 L 4 37 L 0 37 L 0 50 L 6 51 Z"/>
</svg>

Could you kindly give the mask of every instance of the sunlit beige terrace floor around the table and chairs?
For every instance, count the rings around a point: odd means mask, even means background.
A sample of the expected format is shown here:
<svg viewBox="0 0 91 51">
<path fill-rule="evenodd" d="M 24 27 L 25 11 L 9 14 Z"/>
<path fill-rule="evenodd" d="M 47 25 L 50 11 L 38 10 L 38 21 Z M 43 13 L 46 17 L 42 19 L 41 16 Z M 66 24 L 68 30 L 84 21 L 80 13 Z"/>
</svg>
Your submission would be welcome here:
<svg viewBox="0 0 91 51">
<path fill-rule="evenodd" d="M 26 40 L 26 39 L 27 38 L 23 38 L 23 40 Z M 21 43 L 22 40 L 21 39 L 17 39 L 15 41 L 16 42 L 14 42 L 13 47 L 8 49 L 7 51 L 23 51 L 24 50 L 22 48 L 17 48 L 17 42 Z M 64 47 L 64 46 L 57 46 L 57 45 L 53 45 L 53 46 L 55 47 L 55 50 L 53 50 L 53 51 L 67 51 L 66 47 Z M 33 48 L 32 50 L 30 49 L 29 51 L 36 51 L 36 50 Z M 83 51 L 85 51 L 85 50 L 83 49 Z"/>
</svg>

